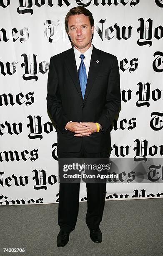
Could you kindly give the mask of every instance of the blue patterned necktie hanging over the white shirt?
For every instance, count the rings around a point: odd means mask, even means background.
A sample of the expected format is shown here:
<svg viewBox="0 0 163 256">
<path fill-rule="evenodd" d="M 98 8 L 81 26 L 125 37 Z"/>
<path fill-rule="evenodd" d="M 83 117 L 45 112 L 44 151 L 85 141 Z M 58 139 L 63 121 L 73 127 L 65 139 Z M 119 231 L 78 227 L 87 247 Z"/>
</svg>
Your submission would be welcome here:
<svg viewBox="0 0 163 256">
<path fill-rule="evenodd" d="M 85 64 L 83 61 L 84 58 L 85 58 L 84 54 L 81 54 L 80 55 L 81 62 L 80 62 L 80 67 L 78 69 L 78 76 L 79 76 L 80 88 L 81 88 L 83 99 L 84 99 L 85 88 L 87 84 L 87 73 L 86 73 Z"/>
</svg>

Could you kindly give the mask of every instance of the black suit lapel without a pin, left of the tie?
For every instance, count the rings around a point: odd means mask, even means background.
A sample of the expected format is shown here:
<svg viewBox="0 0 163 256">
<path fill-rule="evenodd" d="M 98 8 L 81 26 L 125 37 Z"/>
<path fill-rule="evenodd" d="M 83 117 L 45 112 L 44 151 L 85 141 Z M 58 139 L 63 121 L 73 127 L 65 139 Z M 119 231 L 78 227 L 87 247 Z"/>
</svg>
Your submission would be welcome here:
<svg viewBox="0 0 163 256">
<path fill-rule="evenodd" d="M 79 82 L 79 77 L 78 77 L 78 70 L 76 67 L 76 61 L 75 61 L 75 54 L 73 48 L 70 49 L 70 54 L 67 55 L 67 58 L 65 59 L 65 64 L 66 67 L 70 73 L 70 77 L 72 78 L 75 87 L 80 95 L 80 97 L 83 100 L 82 93 L 81 93 L 81 88 L 80 88 L 80 82 Z"/>
</svg>

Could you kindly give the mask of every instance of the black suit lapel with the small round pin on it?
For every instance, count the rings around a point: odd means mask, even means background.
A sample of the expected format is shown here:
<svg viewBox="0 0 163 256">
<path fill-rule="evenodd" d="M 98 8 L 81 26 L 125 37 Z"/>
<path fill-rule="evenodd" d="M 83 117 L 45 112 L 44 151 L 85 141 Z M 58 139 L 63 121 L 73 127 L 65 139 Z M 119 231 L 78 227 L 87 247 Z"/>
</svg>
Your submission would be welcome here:
<svg viewBox="0 0 163 256">
<path fill-rule="evenodd" d="M 87 85 L 86 85 L 86 90 L 85 90 L 85 95 L 83 99 L 83 103 L 87 99 L 90 90 L 93 87 L 93 83 L 95 81 L 95 77 L 97 76 L 100 66 L 102 64 L 102 58 L 100 54 L 98 53 L 98 50 L 93 46 L 92 50 L 92 56 L 90 59 L 90 67 L 89 67 L 89 72 L 88 72 L 88 78 L 87 78 Z"/>
</svg>

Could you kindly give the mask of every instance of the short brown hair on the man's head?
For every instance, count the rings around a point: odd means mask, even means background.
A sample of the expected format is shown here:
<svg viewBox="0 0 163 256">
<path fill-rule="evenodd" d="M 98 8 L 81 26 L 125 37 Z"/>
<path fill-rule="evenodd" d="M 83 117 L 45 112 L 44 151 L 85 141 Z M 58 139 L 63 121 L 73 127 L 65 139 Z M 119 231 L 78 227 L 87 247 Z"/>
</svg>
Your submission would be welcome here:
<svg viewBox="0 0 163 256">
<path fill-rule="evenodd" d="M 83 6 L 76 6 L 70 9 L 70 11 L 65 16 L 65 30 L 68 31 L 68 18 L 72 15 L 76 14 L 84 14 L 85 16 L 88 16 L 90 20 L 90 26 L 91 28 L 94 26 L 94 19 L 92 13 L 84 8 Z"/>
</svg>

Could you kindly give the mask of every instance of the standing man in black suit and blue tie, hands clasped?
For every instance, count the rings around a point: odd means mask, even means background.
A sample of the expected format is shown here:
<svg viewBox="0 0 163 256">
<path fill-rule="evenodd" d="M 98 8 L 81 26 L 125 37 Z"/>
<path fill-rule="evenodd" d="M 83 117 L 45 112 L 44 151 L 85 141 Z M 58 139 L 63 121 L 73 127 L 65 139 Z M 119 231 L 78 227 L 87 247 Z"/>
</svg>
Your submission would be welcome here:
<svg viewBox="0 0 163 256">
<path fill-rule="evenodd" d="M 56 123 L 59 158 L 109 158 L 110 125 L 120 107 L 117 57 L 92 43 L 94 20 L 84 7 L 72 8 L 65 28 L 73 47 L 50 58 L 47 107 Z M 99 225 L 106 183 L 87 183 L 86 224 L 102 241 Z M 65 246 L 78 216 L 80 183 L 60 183 L 57 246 Z"/>
</svg>

